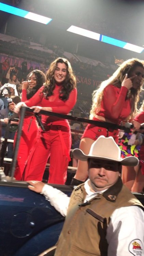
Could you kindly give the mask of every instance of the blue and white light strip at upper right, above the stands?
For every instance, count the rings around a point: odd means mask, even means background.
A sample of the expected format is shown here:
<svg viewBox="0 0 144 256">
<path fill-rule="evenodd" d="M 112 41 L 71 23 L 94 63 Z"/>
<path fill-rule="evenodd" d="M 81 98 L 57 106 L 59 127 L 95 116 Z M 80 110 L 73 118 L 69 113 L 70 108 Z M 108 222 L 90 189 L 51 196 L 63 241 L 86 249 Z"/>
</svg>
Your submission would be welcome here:
<svg viewBox="0 0 144 256">
<path fill-rule="evenodd" d="M 84 30 L 85 30 L 85 33 L 83 33 Z M 76 34 L 80 34 L 80 35 L 83 35 L 84 37 L 89 37 L 89 38 L 101 41 L 103 43 L 112 44 L 112 45 L 127 49 L 129 51 L 133 51 L 133 52 L 136 52 L 136 53 L 142 53 L 143 50 L 144 50 L 143 47 L 140 47 L 140 46 L 137 46 L 137 45 L 134 45 L 134 44 L 130 44 L 130 43 L 127 43 L 127 42 L 124 42 L 124 41 L 120 41 L 120 40 L 115 39 L 115 38 L 107 37 L 106 35 L 99 34 L 99 37 L 98 37 L 98 33 L 95 33 L 95 32 L 92 32 L 92 31 L 89 31 L 89 30 L 86 30 L 86 29 L 83 29 L 83 28 L 78 28 L 78 27 L 75 27 L 75 26 L 70 26 L 67 29 L 67 31 L 72 32 L 72 33 L 76 33 Z M 89 34 L 91 34 L 91 33 L 92 33 L 93 37 L 89 36 Z"/>
</svg>

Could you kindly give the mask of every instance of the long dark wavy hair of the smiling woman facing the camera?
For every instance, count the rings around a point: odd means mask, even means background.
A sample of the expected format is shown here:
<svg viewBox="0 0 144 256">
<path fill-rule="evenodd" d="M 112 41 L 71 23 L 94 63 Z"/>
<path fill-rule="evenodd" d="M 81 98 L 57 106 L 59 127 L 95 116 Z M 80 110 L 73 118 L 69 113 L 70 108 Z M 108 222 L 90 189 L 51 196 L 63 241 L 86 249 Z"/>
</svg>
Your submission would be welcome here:
<svg viewBox="0 0 144 256">
<path fill-rule="evenodd" d="M 46 73 L 46 84 L 44 85 L 43 94 L 46 99 L 48 99 L 48 96 L 53 95 L 53 90 L 55 88 L 54 72 L 58 63 L 64 63 L 67 67 L 67 76 L 62 83 L 62 88 L 59 93 L 59 99 L 66 101 L 69 98 L 70 92 L 76 87 L 76 78 L 70 62 L 65 58 L 57 58 L 49 66 Z"/>
</svg>

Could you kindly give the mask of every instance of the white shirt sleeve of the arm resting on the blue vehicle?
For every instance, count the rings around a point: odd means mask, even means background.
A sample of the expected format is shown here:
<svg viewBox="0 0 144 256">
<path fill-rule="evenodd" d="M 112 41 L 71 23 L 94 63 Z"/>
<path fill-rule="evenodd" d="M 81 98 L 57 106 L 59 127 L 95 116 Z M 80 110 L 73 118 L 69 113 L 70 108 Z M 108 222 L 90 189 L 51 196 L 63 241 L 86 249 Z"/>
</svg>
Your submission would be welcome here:
<svg viewBox="0 0 144 256">
<path fill-rule="evenodd" d="M 46 184 L 44 185 L 41 194 L 45 196 L 46 200 L 48 200 L 62 216 L 67 215 L 70 197 L 62 191 Z"/>
</svg>

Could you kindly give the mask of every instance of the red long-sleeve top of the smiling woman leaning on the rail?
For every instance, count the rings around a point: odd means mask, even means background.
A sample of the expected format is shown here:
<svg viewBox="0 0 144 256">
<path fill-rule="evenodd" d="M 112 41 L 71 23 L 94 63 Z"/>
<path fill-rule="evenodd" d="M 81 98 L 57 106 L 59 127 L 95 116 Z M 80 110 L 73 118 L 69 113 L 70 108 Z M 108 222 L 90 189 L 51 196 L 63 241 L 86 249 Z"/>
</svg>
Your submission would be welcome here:
<svg viewBox="0 0 144 256">
<path fill-rule="evenodd" d="M 63 101 L 59 99 L 59 91 L 61 86 L 55 85 L 55 89 L 53 90 L 54 95 L 48 96 L 48 99 L 44 97 L 42 93 L 44 86 L 42 86 L 35 95 L 26 100 L 25 103 L 27 106 L 42 106 L 42 107 L 51 107 L 52 112 L 60 113 L 60 114 L 68 114 L 71 109 L 74 107 L 77 98 L 77 90 L 74 88 L 69 95 L 68 100 Z M 26 90 L 25 90 L 26 93 Z M 63 125 L 69 126 L 69 123 L 66 119 L 53 117 L 53 116 L 45 116 L 42 115 L 42 123 L 44 125 L 53 123 L 55 125 Z"/>
</svg>

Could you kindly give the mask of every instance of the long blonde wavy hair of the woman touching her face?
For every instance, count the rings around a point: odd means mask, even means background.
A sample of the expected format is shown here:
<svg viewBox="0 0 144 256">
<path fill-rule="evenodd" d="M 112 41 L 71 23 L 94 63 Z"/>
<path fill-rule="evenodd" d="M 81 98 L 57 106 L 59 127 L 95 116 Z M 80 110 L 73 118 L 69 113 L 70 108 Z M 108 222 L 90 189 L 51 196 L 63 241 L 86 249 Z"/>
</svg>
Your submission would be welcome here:
<svg viewBox="0 0 144 256">
<path fill-rule="evenodd" d="M 112 84 L 112 85 L 120 88 L 125 75 L 129 74 L 129 72 L 132 71 L 137 66 L 140 66 L 144 69 L 144 61 L 135 59 L 135 58 L 128 59 L 128 60 L 124 61 L 119 66 L 119 68 L 113 73 L 113 75 L 111 77 L 109 77 L 109 79 L 103 81 L 100 84 L 100 87 L 97 90 L 93 91 L 92 107 L 90 110 L 90 119 L 92 119 L 100 110 L 100 105 L 101 105 L 101 101 L 103 98 L 104 88 L 109 84 Z M 142 85 L 143 85 L 143 81 L 138 89 L 136 89 L 136 90 L 130 89 L 128 92 L 127 97 L 129 99 L 131 99 L 131 105 L 132 105 L 131 113 L 130 113 L 130 116 L 128 117 L 129 119 L 132 118 L 138 111 L 137 104 L 139 101 L 139 93 L 142 91 Z"/>
</svg>

